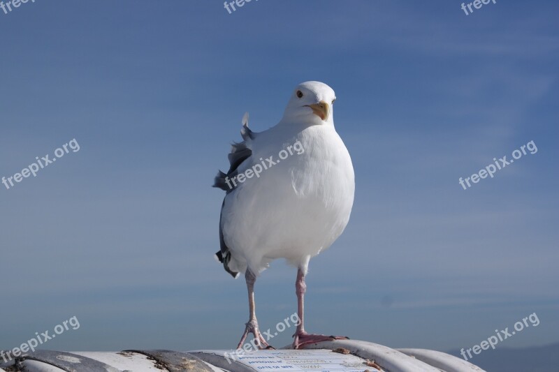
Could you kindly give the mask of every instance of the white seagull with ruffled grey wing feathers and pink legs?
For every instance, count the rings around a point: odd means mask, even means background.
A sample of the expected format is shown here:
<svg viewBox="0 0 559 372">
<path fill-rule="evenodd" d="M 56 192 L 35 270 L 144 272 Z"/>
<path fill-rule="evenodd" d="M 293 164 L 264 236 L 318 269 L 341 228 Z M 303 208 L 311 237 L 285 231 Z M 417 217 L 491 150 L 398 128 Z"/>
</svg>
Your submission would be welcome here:
<svg viewBox="0 0 559 372">
<path fill-rule="evenodd" d="M 243 141 L 232 145 L 228 172 L 215 177 L 213 186 L 226 191 L 216 258 L 234 278 L 245 274 L 249 295 L 249 321 L 237 348 L 248 334 L 260 349 L 271 348 L 256 320 L 254 283 L 278 258 L 297 268 L 293 348 L 347 338 L 308 334 L 303 316 L 309 260 L 342 234 L 354 202 L 351 157 L 334 128 L 335 99 L 328 85 L 303 82 L 272 128 L 251 131 L 245 114 Z"/>
</svg>

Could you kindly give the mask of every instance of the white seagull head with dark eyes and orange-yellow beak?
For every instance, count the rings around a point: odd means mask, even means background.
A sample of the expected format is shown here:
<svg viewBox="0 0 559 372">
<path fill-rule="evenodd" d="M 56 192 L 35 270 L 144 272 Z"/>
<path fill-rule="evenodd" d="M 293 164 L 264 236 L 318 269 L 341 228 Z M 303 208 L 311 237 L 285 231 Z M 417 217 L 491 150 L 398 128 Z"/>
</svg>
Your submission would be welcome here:
<svg viewBox="0 0 559 372">
<path fill-rule="evenodd" d="M 289 99 L 282 121 L 334 124 L 332 105 L 336 94 L 324 82 L 303 82 Z"/>
</svg>

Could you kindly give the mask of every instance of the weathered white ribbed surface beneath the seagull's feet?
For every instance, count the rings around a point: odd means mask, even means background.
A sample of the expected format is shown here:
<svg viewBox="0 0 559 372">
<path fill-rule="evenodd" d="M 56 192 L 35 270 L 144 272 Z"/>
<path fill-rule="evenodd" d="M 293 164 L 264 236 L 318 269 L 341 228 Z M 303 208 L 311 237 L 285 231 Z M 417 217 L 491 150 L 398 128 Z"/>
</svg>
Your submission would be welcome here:
<svg viewBox="0 0 559 372">
<path fill-rule="evenodd" d="M 55 352 L 37 350 L 0 372 L 484 372 L 458 357 L 423 349 L 395 350 L 365 341 L 336 340 L 306 345 L 303 350 L 126 350 L 123 352 Z M 2 362 L 0 360 L 0 362 Z"/>
</svg>

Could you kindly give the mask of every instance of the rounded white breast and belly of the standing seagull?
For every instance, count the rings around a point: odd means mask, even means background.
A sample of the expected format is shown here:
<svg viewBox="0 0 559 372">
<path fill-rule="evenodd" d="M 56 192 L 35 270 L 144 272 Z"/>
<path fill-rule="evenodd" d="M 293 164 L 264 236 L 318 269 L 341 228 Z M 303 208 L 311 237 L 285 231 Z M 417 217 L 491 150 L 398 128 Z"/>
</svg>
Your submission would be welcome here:
<svg viewBox="0 0 559 372">
<path fill-rule="evenodd" d="M 234 271 L 248 265 L 260 272 L 277 258 L 306 271 L 309 258 L 328 248 L 349 221 L 354 170 L 334 129 L 312 126 L 285 140 L 285 146 L 300 141 L 304 152 L 271 165 L 226 197 L 222 227 Z M 281 149 L 253 149 L 253 164 L 272 155 L 277 160 Z"/>
</svg>

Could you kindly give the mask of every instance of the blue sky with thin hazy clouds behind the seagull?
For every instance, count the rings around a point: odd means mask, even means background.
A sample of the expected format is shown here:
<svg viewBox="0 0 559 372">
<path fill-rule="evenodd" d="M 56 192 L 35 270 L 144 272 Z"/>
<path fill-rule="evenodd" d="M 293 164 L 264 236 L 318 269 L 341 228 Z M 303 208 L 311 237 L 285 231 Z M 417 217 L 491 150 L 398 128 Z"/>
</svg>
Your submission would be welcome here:
<svg viewBox="0 0 559 372">
<path fill-rule="evenodd" d="M 351 220 L 314 258 L 306 328 L 392 347 L 559 341 L 559 4 L 43 1 L 0 10 L 0 348 L 75 315 L 61 350 L 232 348 L 246 288 L 212 255 L 240 119 L 293 87 L 336 91 L 356 172 Z M 493 179 L 459 177 L 533 140 Z M 295 269 L 256 283 L 261 328 L 296 310 Z M 291 342 L 291 330 L 271 340 Z"/>
</svg>

